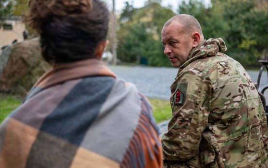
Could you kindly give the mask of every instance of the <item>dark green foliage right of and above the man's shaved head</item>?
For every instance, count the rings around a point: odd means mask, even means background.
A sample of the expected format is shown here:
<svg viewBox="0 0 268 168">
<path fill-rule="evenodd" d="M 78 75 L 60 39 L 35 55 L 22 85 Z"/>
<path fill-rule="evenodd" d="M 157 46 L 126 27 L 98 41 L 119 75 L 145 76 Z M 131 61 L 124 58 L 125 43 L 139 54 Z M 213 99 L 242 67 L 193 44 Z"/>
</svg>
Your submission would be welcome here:
<svg viewBox="0 0 268 168">
<path fill-rule="evenodd" d="M 253 67 L 258 66 L 258 59 L 268 49 L 268 11 L 260 7 L 261 3 L 261 0 L 212 0 L 211 6 L 205 7 L 201 0 L 188 3 L 184 0 L 178 13 L 197 18 L 206 39 L 223 38 L 228 48 L 226 54 L 244 66 Z"/>
</svg>

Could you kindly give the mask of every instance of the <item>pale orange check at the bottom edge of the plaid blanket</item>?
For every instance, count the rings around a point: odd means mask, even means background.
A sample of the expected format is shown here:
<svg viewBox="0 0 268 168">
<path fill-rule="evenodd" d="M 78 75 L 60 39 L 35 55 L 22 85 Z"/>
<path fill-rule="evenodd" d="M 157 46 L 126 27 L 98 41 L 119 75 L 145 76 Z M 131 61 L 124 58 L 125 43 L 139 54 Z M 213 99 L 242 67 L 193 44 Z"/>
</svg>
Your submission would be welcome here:
<svg viewBox="0 0 268 168">
<path fill-rule="evenodd" d="M 119 168 L 119 164 L 95 152 L 79 148 L 70 168 Z"/>
</svg>

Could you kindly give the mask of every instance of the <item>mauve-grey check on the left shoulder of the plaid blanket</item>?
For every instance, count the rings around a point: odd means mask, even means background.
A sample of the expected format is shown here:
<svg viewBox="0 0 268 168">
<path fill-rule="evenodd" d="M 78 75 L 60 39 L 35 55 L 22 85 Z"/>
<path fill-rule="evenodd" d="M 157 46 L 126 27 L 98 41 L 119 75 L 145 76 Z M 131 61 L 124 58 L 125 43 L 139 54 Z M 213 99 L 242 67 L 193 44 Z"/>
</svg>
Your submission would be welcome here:
<svg viewBox="0 0 268 168">
<path fill-rule="evenodd" d="M 39 92 L 20 106 L 12 117 L 39 130 L 43 120 L 57 108 L 64 97 L 80 81 L 81 79 L 71 80 Z"/>
</svg>

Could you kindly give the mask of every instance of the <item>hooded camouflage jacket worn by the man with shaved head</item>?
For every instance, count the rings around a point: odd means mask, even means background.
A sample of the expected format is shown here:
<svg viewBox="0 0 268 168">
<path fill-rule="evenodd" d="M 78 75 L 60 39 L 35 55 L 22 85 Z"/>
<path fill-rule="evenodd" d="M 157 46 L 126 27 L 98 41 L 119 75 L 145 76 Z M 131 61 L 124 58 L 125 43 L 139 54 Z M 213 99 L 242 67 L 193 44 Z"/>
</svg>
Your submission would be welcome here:
<svg viewBox="0 0 268 168">
<path fill-rule="evenodd" d="M 171 85 L 164 168 L 267 168 L 267 118 L 245 69 L 221 38 L 201 41 Z"/>
</svg>

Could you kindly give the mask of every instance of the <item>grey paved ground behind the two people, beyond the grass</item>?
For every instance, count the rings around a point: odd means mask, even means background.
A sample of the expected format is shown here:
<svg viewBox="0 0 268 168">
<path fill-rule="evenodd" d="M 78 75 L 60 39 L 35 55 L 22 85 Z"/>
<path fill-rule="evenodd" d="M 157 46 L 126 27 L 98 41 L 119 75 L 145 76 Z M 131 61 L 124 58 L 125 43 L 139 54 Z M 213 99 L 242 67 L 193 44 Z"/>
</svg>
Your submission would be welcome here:
<svg viewBox="0 0 268 168">
<path fill-rule="evenodd" d="M 141 67 L 141 66 L 109 66 L 109 68 L 117 74 L 118 77 L 125 79 L 128 82 L 134 83 L 138 90 L 151 98 L 169 100 L 170 85 L 177 75 L 178 69 L 162 68 L 162 67 Z M 258 71 L 248 71 L 253 82 L 258 79 Z M 268 84 L 267 72 L 263 72 L 260 90 L 264 85 Z M 265 97 L 268 100 L 268 90 L 265 92 Z M 268 101 L 267 101 L 268 102 Z M 168 121 L 162 122 L 159 125 L 161 136 L 168 129 Z"/>
</svg>

